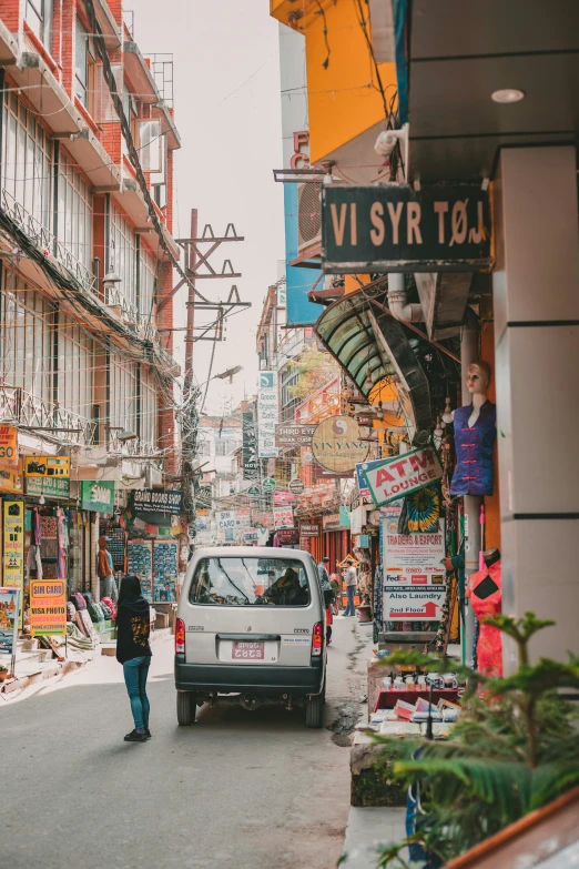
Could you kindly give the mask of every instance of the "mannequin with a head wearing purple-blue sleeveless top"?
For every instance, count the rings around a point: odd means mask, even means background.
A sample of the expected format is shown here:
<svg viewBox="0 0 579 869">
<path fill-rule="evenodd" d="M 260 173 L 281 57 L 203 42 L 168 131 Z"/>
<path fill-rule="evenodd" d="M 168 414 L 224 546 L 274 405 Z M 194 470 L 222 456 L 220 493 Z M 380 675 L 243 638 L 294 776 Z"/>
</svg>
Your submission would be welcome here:
<svg viewBox="0 0 579 869">
<path fill-rule="evenodd" d="M 451 495 L 492 495 L 492 447 L 497 438 L 497 411 L 487 397 L 490 367 L 486 362 L 468 366 L 471 404 L 454 413 L 456 467 Z"/>
</svg>

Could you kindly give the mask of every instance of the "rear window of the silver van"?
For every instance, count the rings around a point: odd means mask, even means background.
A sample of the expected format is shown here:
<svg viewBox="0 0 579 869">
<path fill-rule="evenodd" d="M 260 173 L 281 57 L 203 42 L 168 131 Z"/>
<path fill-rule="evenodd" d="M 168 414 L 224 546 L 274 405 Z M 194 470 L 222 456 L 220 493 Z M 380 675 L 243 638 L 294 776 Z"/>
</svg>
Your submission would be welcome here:
<svg viewBox="0 0 579 869">
<path fill-rule="evenodd" d="M 189 599 L 207 606 L 307 606 L 304 564 L 293 558 L 202 558 Z"/>
</svg>

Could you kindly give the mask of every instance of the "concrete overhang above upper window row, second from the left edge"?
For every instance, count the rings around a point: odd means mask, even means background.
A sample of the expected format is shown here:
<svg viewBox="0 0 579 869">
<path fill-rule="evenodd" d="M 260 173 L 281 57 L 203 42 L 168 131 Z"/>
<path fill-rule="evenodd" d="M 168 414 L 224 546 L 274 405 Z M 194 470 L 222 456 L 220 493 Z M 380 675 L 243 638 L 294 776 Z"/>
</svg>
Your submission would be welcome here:
<svg viewBox="0 0 579 869">
<path fill-rule="evenodd" d="M 18 63 L 9 67 L 8 72 L 22 88 L 33 109 L 47 117 L 54 134 L 80 133 L 84 124 L 79 112 L 40 54 L 23 51 Z"/>
</svg>

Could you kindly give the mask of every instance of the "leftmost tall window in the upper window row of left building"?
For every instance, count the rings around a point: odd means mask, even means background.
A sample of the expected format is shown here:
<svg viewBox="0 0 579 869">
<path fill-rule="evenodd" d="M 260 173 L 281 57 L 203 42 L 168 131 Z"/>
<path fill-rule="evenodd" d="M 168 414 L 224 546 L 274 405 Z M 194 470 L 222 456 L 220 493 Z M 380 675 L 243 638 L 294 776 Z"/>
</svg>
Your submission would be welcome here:
<svg viewBox="0 0 579 869">
<path fill-rule="evenodd" d="M 51 229 L 52 142 L 32 112 L 8 90 L 3 100 L 3 206 L 22 205 L 41 226 Z M 27 230 L 29 226 L 27 226 Z M 39 244 L 41 240 L 39 239 Z"/>
</svg>

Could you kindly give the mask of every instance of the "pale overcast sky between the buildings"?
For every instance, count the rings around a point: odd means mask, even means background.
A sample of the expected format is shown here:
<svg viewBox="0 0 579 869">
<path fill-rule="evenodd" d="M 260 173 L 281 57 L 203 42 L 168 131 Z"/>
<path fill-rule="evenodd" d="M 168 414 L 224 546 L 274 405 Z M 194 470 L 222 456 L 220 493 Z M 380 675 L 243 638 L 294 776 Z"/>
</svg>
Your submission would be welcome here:
<svg viewBox="0 0 579 869">
<path fill-rule="evenodd" d="M 197 281 L 211 299 L 226 299 L 232 283 L 253 307 L 227 321 L 226 341 L 215 346 L 213 374 L 244 366 L 233 386 L 213 381 L 205 410 L 221 413 L 244 390 L 255 392 L 255 331 L 267 286 L 284 259 L 283 191 L 273 181 L 282 165 L 277 22 L 267 0 L 133 0 L 134 38 L 143 54 L 172 52 L 175 122 L 182 148 L 175 152 L 176 238 L 189 236 L 191 209 L 200 232 L 211 223 L 222 235 L 233 221 L 245 242 L 224 244 L 212 259 L 221 271 L 231 259 L 243 277 Z M 223 252 L 223 253 L 222 253 Z M 185 324 L 186 293 L 180 292 L 175 325 Z M 202 320 L 203 319 L 203 320 Z M 200 314 L 209 322 L 209 314 Z M 183 333 L 175 333 L 182 340 Z M 211 342 L 194 347 L 199 382 L 207 377 Z M 175 352 L 183 362 L 182 346 Z"/>
</svg>

